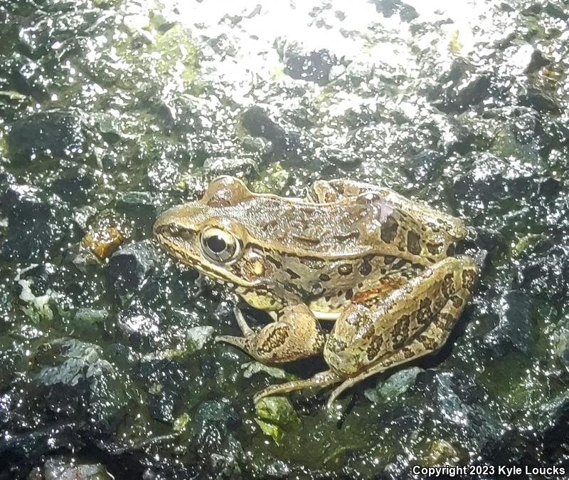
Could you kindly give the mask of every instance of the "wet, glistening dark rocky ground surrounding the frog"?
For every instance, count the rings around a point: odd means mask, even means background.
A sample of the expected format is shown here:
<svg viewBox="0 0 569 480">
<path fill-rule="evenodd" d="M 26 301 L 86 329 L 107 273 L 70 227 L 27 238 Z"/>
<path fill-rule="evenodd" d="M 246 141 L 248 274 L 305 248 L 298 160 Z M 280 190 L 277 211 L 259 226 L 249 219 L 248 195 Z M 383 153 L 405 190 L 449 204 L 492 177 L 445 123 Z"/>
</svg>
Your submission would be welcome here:
<svg viewBox="0 0 569 480">
<path fill-rule="evenodd" d="M 0 479 L 568 471 L 569 7 L 226 3 L 0 0 Z M 218 174 L 461 216 L 484 268 L 450 342 L 332 412 L 253 405 L 324 365 L 214 344 L 233 299 L 153 243 Z"/>
</svg>

